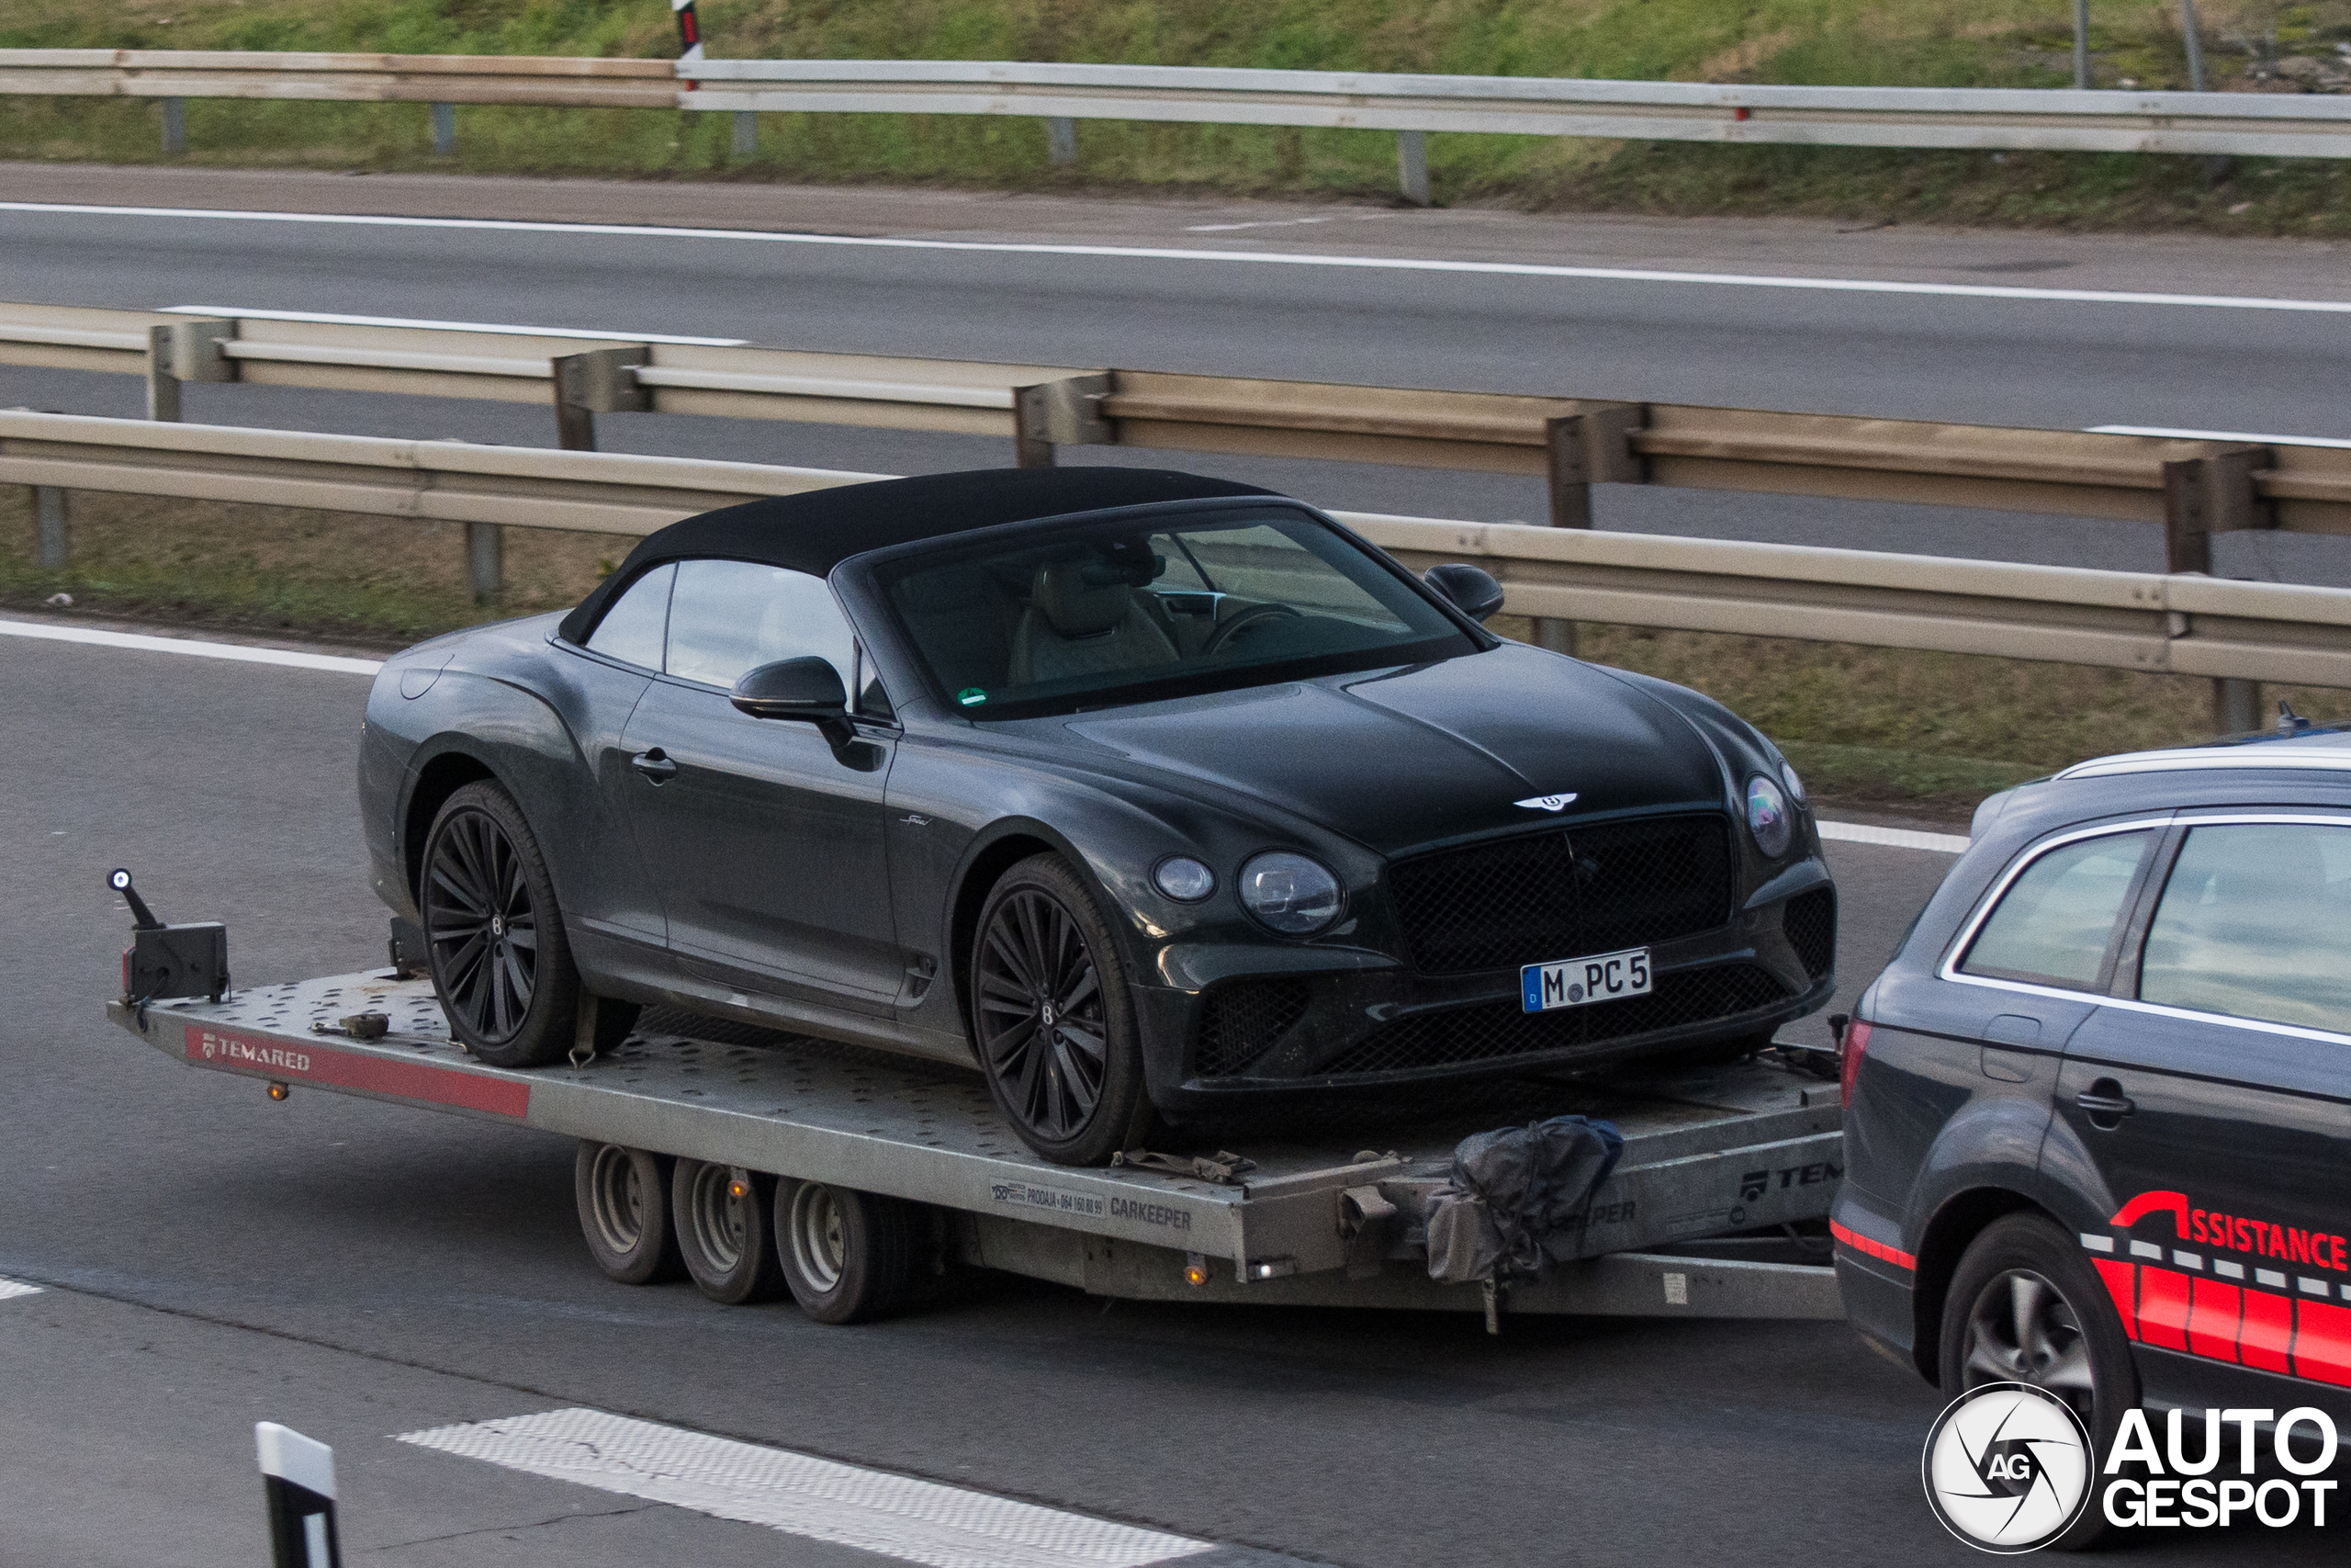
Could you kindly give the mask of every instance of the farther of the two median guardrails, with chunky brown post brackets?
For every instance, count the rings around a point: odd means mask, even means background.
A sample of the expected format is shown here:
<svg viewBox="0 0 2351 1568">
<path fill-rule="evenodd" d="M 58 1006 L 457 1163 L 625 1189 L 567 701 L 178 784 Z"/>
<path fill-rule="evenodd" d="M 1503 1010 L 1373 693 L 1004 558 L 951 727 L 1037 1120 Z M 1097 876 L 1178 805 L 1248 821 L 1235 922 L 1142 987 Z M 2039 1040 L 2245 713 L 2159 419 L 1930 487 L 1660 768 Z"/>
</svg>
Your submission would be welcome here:
<svg viewBox="0 0 2351 1568">
<path fill-rule="evenodd" d="M 1516 473 L 1554 527 L 1589 527 L 1594 484 L 1963 505 L 2161 522 L 2175 571 L 2217 531 L 2351 534 L 2339 447 L 618 336 L 0 303 L 0 362 L 143 374 L 160 418 L 186 381 L 245 381 L 548 400 L 571 449 L 597 414 L 663 411 L 1013 437 L 1025 465 L 1110 444 Z"/>
</svg>

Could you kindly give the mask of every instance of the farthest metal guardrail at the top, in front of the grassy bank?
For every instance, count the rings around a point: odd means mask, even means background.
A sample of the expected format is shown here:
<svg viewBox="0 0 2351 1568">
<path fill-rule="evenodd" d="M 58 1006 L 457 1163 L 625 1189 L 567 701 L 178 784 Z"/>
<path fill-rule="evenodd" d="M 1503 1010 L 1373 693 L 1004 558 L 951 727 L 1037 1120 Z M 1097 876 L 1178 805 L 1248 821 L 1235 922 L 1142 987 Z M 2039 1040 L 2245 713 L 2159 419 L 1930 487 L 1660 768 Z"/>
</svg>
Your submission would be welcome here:
<svg viewBox="0 0 2351 1568">
<path fill-rule="evenodd" d="M 1063 165 L 1077 162 L 1077 120 L 1385 129 L 1396 134 L 1404 195 L 1422 205 L 1429 132 L 2250 158 L 2351 153 L 2351 101 L 2318 94 L 1759 87 L 1023 61 L 0 49 L 0 94 L 162 99 L 165 150 L 174 153 L 186 148 L 186 99 L 423 101 L 435 106 L 440 153 L 456 146 L 456 103 L 1034 115 L 1046 120 L 1049 155 Z M 738 150 L 757 146 L 750 125 L 736 122 Z"/>
</svg>

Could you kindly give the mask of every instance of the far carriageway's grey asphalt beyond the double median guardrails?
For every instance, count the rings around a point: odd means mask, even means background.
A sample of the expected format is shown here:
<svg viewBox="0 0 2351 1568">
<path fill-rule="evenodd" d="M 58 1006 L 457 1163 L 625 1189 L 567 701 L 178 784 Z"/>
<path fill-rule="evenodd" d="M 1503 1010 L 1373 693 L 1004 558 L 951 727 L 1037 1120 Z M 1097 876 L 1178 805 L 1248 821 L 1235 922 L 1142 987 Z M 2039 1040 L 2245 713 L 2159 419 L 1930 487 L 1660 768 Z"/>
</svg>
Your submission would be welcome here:
<svg viewBox="0 0 2351 1568">
<path fill-rule="evenodd" d="M 1340 259 L 1575 263 L 1893 280 L 1940 289 L 2154 289 L 2342 299 L 2335 247 L 1836 233 L 1493 212 L 1107 202 L 764 186 L 348 179 L 9 165 L 0 197 L 689 223 L 851 240 L 1079 242 L 1230 259 L 877 249 L 741 237 L 254 223 L 193 212 L 0 212 L 0 292 L 85 306 L 329 310 L 595 327 L 842 353 L 1128 364 L 2081 428 L 2351 437 L 2335 386 L 2351 315 L 2191 303 L 1850 294 L 1660 280 L 1270 266 Z M 0 404 L 136 414 L 127 376 L 0 371 Z M 520 404 L 188 388 L 188 418 L 548 444 Z M 1006 461 L 1004 442 L 679 416 L 607 416 L 635 451 L 910 473 Z M 1105 461 L 1107 454 L 1072 454 Z M 1533 480 L 1230 456 L 1117 454 L 1253 477 L 1326 505 L 1542 515 Z M 2161 569 L 2158 529 L 2001 512 L 1603 487 L 1601 527 L 1930 555 Z M 2351 545 L 2222 536 L 2222 574 L 2351 583 Z"/>
</svg>

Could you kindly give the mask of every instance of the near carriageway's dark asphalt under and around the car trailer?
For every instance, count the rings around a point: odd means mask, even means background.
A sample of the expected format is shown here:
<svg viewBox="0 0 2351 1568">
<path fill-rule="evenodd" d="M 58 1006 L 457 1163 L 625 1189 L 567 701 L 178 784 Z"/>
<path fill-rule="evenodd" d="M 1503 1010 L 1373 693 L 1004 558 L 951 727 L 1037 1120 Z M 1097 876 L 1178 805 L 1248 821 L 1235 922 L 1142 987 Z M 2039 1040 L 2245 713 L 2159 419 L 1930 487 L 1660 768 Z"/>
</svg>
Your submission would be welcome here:
<svg viewBox="0 0 2351 1568">
<path fill-rule="evenodd" d="M 390 1441 L 564 1406 L 1361 1568 L 1961 1563 L 1933 1389 L 1841 1324 L 1105 1307 L 999 1279 L 870 1328 L 604 1281 L 571 1145 L 195 1074 L 113 1030 L 132 865 L 242 983 L 381 954 L 364 679 L 0 639 L 0 1563 L 254 1563 L 252 1422 L 334 1443 L 353 1563 L 882 1563 Z M 1831 846 L 1867 980 L 1947 860 Z M 2337 1561 L 2318 1533 L 2165 1542 Z"/>
</svg>

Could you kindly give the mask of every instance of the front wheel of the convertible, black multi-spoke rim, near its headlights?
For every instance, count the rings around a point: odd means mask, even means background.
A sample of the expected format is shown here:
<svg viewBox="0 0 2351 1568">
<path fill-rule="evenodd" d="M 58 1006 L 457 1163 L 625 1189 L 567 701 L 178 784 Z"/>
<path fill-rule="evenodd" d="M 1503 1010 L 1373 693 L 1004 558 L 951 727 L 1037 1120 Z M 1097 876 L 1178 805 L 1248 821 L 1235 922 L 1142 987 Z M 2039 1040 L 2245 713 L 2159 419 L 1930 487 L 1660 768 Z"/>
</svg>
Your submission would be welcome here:
<svg viewBox="0 0 2351 1568">
<path fill-rule="evenodd" d="M 1152 1131 L 1126 966 L 1060 856 L 1020 860 L 980 905 L 971 1048 L 997 1110 L 1053 1164 L 1100 1166 Z"/>
</svg>

